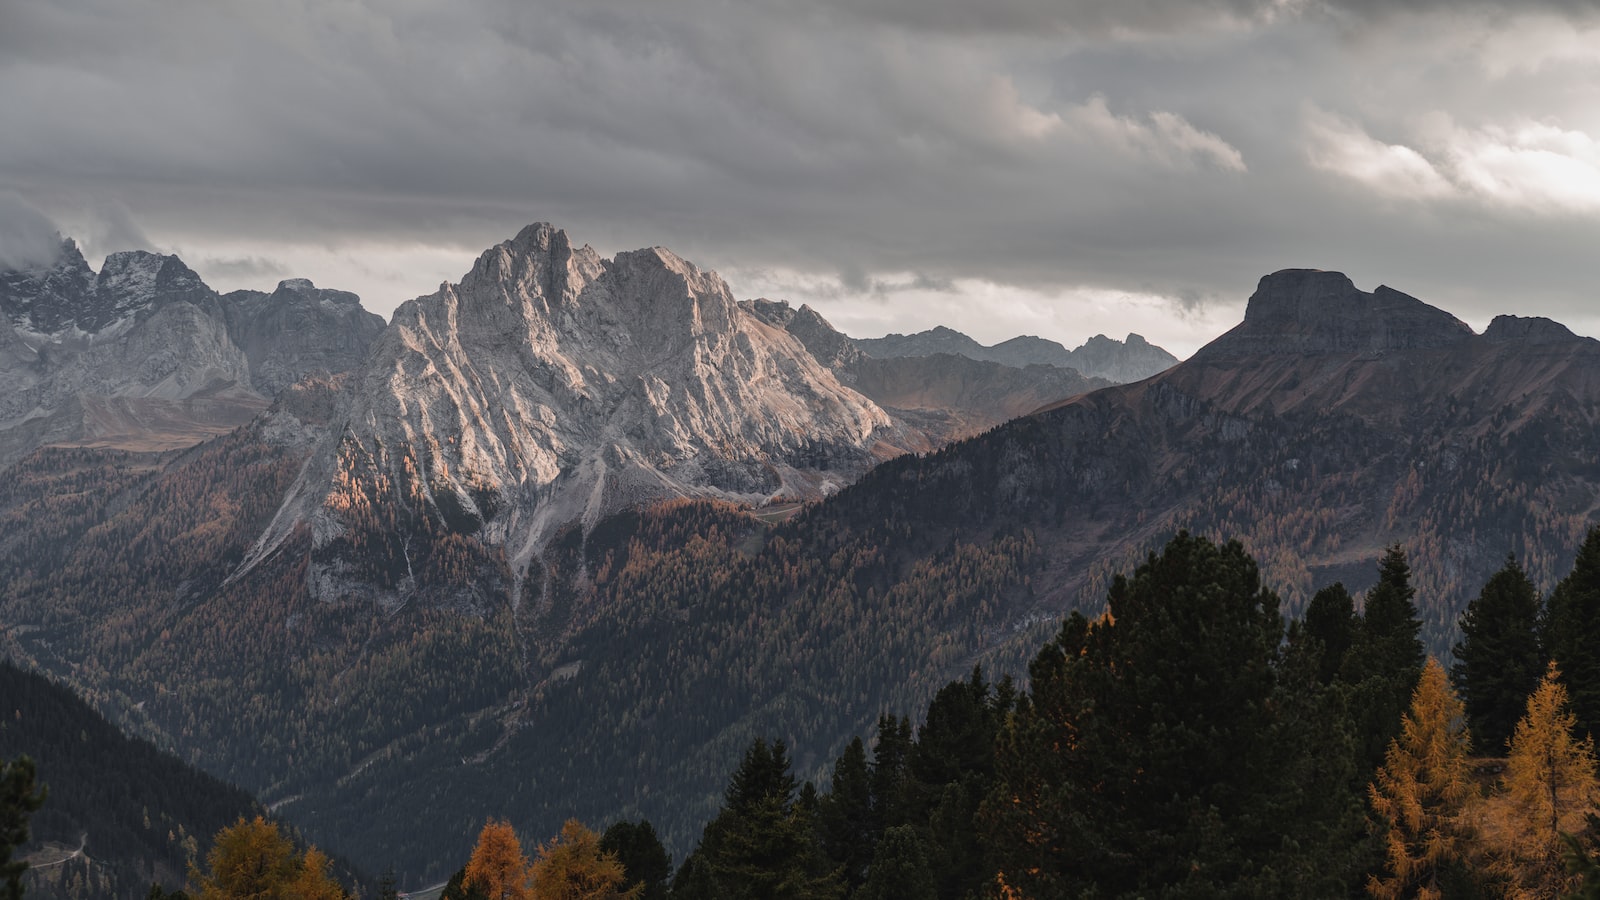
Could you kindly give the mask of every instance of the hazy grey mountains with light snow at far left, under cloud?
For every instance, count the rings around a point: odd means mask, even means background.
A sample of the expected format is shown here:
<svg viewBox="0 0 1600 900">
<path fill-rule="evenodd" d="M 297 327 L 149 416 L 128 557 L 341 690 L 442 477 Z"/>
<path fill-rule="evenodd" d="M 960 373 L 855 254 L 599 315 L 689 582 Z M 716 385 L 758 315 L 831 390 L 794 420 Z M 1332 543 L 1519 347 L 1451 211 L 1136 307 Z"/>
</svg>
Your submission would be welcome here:
<svg viewBox="0 0 1600 900">
<path fill-rule="evenodd" d="M 0 463 L 46 445 L 176 448 L 245 424 L 314 373 L 354 368 L 382 328 L 304 279 L 219 296 L 178 256 L 70 239 L 0 272 Z"/>
</svg>

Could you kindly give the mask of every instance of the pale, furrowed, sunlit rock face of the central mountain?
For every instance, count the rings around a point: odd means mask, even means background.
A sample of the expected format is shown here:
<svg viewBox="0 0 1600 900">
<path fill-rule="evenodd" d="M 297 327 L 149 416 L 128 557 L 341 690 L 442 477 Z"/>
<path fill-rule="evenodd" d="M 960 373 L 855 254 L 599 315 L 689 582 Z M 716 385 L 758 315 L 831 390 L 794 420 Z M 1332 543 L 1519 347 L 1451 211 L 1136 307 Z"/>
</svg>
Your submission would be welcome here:
<svg viewBox="0 0 1600 900">
<path fill-rule="evenodd" d="M 602 259 L 549 224 L 408 301 L 349 413 L 258 544 L 354 541 L 398 503 L 528 559 L 554 530 L 672 496 L 816 496 L 901 429 L 712 272 L 662 248 Z M 323 557 L 320 591 L 360 593 Z M 331 573 L 331 575 L 330 575 Z"/>
</svg>

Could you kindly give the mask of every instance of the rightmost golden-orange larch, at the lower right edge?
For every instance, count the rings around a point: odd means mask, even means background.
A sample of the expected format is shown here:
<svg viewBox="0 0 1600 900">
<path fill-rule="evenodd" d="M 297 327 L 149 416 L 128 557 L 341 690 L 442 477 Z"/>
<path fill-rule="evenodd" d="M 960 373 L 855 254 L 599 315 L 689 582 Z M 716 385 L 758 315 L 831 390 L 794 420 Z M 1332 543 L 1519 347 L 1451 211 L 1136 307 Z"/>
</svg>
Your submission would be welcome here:
<svg viewBox="0 0 1600 900">
<path fill-rule="evenodd" d="M 1562 834 L 1584 830 L 1586 815 L 1600 804 L 1592 737 L 1573 735 L 1576 716 L 1568 708 L 1562 673 L 1550 663 L 1528 697 L 1528 713 L 1517 722 L 1506 759 L 1509 834 L 1517 838 L 1518 881 L 1526 897 L 1560 897 L 1566 889 Z"/>
</svg>

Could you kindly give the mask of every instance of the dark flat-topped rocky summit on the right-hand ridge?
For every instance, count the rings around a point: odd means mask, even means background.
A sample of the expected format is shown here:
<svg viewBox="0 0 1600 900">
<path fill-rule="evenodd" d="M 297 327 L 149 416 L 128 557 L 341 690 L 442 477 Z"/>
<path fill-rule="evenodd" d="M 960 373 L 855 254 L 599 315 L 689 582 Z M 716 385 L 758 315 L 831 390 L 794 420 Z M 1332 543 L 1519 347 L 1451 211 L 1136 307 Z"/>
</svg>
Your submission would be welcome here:
<svg viewBox="0 0 1600 900">
<path fill-rule="evenodd" d="M 1470 336 L 1454 315 L 1390 287 L 1368 293 L 1344 272 L 1282 269 L 1256 285 L 1245 320 L 1195 356 L 1379 354 Z"/>
</svg>

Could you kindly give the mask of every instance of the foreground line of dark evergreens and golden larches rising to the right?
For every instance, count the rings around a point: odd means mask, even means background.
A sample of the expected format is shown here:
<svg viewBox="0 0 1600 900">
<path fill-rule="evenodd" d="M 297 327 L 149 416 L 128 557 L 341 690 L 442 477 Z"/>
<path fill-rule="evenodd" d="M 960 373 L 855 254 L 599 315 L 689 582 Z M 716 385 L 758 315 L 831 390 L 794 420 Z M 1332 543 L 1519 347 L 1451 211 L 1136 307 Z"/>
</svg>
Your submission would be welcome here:
<svg viewBox="0 0 1600 900">
<path fill-rule="evenodd" d="M 586 847 L 563 871 L 598 881 L 557 889 L 491 822 L 446 897 L 1600 892 L 1600 528 L 1542 601 L 1507 559 L 1450 674 L 1402 548 L 1363 601 L 1334 585 L 1285 621 L 1238 543 L 1179 533 L 1062 623 L 1026 689 L 974 669 L 920 725 L 882 716 L 826 790 L 754 740 L 675 871 L 648 822 L 570 822 L 541 858 Z"/>
</svg>

